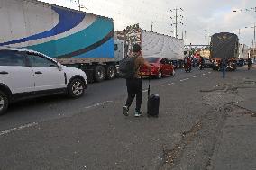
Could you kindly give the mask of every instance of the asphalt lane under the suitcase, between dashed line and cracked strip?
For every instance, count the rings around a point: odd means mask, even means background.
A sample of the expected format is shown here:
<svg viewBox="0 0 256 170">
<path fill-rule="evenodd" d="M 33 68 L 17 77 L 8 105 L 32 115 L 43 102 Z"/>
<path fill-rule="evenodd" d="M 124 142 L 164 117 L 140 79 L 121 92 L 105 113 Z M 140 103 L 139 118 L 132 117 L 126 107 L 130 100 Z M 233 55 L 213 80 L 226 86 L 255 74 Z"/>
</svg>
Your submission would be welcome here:
<svg viewBox="0 0 256 170">
<path fill-rule="evenodd" d="M 124 96 L 119 96 L 113 103 L 88 108 L 69 118 L 6 131 L 0 136 L 0 155 L 5 156 L 0 165 L 4 169 L 157 169 L 162 163 L 163 149 L 173 148 L 182 131 L 189 130 L 206 110 L 206 106 L 198 107 L 199 85 L 214 85 L 216 80 L 211 76 L 164 87 L 154 85 L 152 89 L 160 94 L 161 100 L 158 119 L 135 119 L 132 112 L 124 117 Z M 143 100 L 143 116 L 145 107 Z"/>
</svg>

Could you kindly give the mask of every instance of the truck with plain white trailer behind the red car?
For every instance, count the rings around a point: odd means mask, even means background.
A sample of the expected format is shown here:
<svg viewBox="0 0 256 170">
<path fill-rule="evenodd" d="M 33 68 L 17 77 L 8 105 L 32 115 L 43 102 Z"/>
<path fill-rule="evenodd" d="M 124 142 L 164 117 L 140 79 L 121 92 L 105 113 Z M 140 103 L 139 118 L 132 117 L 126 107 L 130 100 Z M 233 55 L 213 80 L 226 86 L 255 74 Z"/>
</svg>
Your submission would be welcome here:
<svg viewBox="0 0 256 170">
<path fill-rule="evenodd" d="M 140 28 L 139 24 L 116 31 L 118 40 L 123 40 L 124 56 L 131 55 L 133 44 L 140 44 L 144 58 L 184 58 L 184 40 Z"/>
</svg>

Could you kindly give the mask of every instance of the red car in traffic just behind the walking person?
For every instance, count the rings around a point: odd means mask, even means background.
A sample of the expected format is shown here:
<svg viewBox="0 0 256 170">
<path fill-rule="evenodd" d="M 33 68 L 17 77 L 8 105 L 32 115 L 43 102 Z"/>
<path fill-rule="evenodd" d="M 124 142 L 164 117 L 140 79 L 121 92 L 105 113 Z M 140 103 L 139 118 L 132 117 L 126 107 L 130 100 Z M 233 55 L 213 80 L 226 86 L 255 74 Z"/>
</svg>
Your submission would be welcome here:
<svg viewBox="0 0 256 170">
<path fill-rule="evenodd" d="M 151 64 L 151 72 L 147 67 L 140 68 L 141 76 L 174 76 L 174 67 L 167 58 L 145 58 Z"/>
</svg>

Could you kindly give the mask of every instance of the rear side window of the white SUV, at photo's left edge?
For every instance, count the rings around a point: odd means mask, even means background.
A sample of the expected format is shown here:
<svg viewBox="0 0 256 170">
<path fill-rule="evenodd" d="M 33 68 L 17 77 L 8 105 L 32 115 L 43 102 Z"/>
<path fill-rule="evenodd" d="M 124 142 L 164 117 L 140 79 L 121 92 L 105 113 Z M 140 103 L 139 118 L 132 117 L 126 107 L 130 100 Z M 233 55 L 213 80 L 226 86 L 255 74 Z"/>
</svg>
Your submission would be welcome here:
<svg viewBox="0 0 256 170">
<path fill-rule="evenodd" d="M 23 52 L 14 50 L 0 50 L 0 66 L 25 66 Z"/>
</svg>

